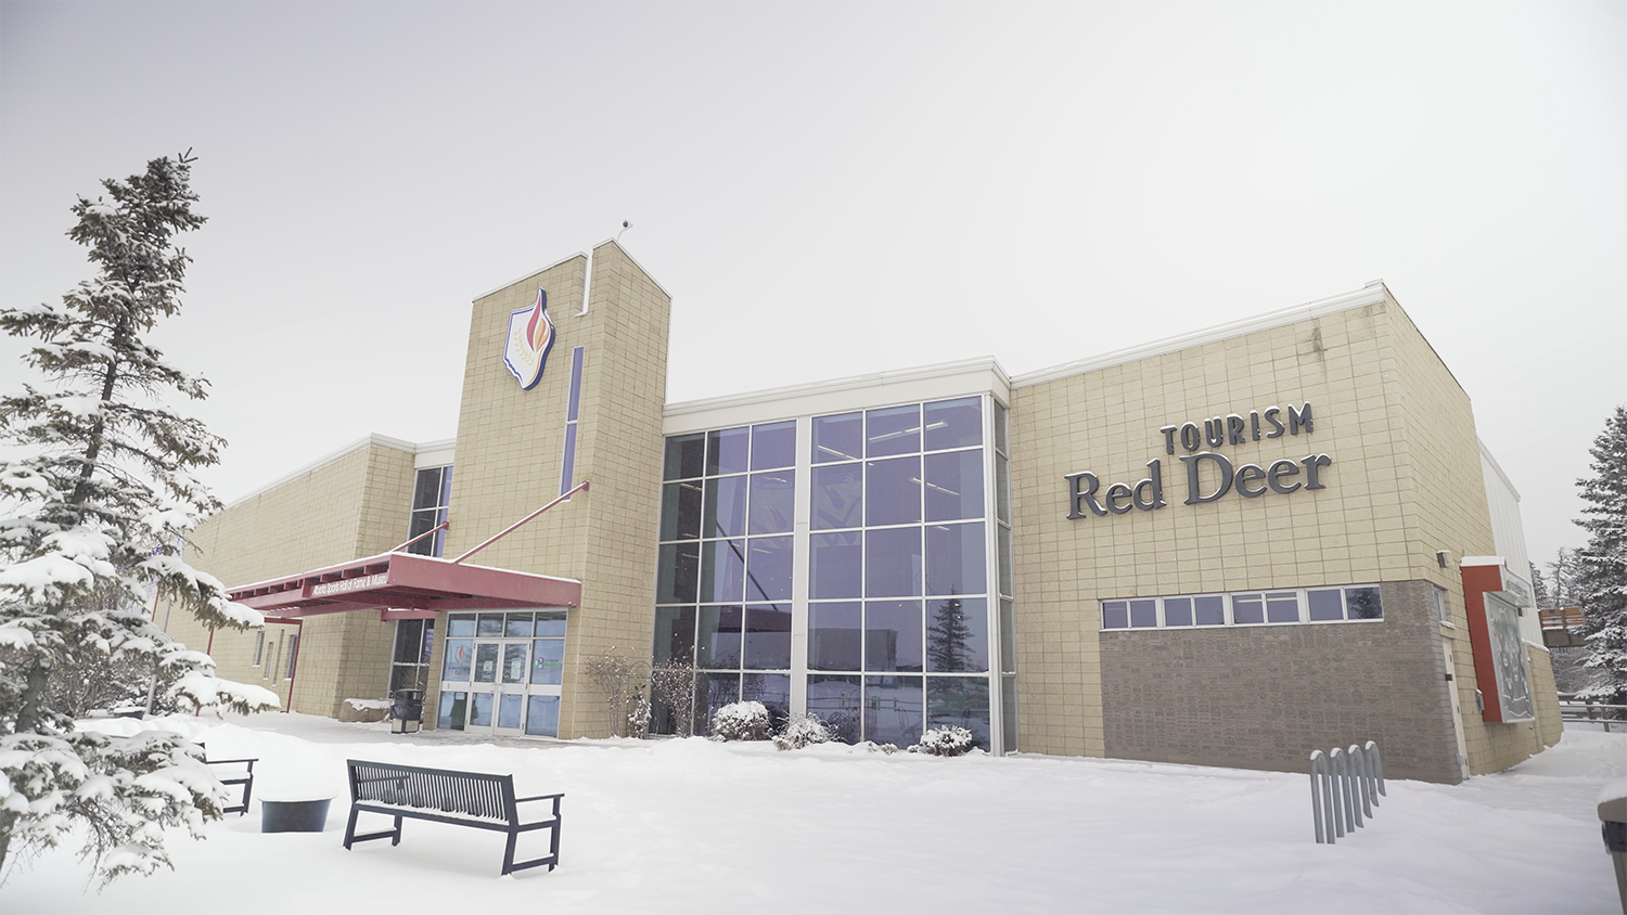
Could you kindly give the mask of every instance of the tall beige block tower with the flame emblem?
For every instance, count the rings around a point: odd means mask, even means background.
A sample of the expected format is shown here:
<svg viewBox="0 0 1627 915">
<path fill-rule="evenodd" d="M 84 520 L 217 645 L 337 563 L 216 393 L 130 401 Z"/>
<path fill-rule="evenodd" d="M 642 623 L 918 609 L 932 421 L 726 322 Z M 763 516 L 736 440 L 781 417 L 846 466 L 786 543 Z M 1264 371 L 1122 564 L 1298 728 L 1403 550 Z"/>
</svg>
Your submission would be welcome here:
<svg viewBox="0 0 1627 915">
<path fill-rule="evenodd" d="M 654 629 L 661 416 L 669 296 L 615 244 L 475 301 L 457 426 L 446 553 L 456 556 L 558 496 L 571 349 L 586 346 L 574 481 L 591 491 L 556 505 L 475 559 L 582 582 L 566 627 L 560 736 L 604 736 L 604 704 L 582 691 L 581 663 L 610 648 L 644 660 Z M 535 388 L 504 367 L 509 314 L 548 289 L 558 333 Z M 438 624 L 444 632 L 444 618 Z M 433 670 L 439 670 L 438 640 Z M 431 700 L 434 696 L 431 696 Z M 433 717 L 426 712 L 426 717 Z"/>
</svg>

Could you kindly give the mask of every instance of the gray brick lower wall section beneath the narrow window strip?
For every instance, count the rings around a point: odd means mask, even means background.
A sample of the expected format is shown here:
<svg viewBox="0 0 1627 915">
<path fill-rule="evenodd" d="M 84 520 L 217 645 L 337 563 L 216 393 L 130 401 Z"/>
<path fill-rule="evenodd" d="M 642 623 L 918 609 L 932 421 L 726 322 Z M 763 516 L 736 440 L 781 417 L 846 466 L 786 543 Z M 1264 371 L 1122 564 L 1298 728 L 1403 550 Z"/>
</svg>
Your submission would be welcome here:
<svg viewBox="0 0 1627 915">
<path fill-rule="evenodd" d="M 1383 622 L 1101 632 L 1106 756 L 1298 772 L 1375 739 L 1388 777 L 1458 782 L 1430 583 L 1380 593 Z"/>
</svg>

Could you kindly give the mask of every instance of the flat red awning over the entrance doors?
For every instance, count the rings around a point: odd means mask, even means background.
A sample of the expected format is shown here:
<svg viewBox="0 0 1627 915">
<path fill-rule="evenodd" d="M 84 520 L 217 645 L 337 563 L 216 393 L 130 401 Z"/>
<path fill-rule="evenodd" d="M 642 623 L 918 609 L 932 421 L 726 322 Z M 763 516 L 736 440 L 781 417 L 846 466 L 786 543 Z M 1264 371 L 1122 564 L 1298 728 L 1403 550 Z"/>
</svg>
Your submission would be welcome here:
<svg viewBox="0 0 1627 915">
<path fill-rule="evenodd" d="M 228 596 L 281 619 L 351 609 L 430 616 L 443 609 L 581 606 L 582 583 L 509 569 L 465 566 L 413 553 L 386 553 L 239 588 Z"/>
</svg>

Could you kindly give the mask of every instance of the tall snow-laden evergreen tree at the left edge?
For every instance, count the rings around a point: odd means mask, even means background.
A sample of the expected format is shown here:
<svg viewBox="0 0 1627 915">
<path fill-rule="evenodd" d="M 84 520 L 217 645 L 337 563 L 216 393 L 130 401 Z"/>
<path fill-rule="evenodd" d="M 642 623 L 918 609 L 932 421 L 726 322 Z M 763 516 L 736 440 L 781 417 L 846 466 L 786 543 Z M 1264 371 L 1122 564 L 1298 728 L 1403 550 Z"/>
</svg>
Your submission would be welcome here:
<svg viewBox="0 0 1627 915">
<path fill-rule="evenodd" d="M 78 198 L 68 237 L 89 249 L 94 278 L 60 306 L 0 309 L 0 328 L 31 338 L 24 362 L 41 387 L 0 398 L 0 874 L 8 856 L 85 835 L 103 881 L 171 866 L 164 827 L 198 835 L 225 788 L 202 751 L 164 731 L 109 738 L 76 731 L 62 707 L 65 671 L 106 666 L 169 683 L 192 707 L 254 710 L 277 696 L 213 676 L 215 665 L 148 621 L 161 593 L 210 626 L 262 624 L 221 583 L 181 559 L 184 531 L 218 502 L 190 475 L 223 444 L 166 395 L 207 384 L 143 340 L 181 307 L 189 258 L 174 244 L 197 229 L 185 156 L 104 180 Z"/>
</svg>

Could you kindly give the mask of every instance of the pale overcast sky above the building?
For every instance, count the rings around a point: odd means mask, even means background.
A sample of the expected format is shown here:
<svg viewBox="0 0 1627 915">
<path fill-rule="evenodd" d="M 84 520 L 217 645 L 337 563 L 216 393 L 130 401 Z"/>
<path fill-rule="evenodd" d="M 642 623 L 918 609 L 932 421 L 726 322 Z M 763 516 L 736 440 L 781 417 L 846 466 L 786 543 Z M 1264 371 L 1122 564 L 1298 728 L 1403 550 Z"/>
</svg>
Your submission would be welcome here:
<svg viewBox="0 0 1627 915">
<path fill-rule="evenodd" d="M 0 0 L 0 302 L 88 276 L 75 195 L 189 146 L 210 223 L 158 343 L 213 382 L 226 501 L 452 437 L 470 299 L 623 219 L 674 401 L 1383 278 L 1538 559 L 1627 401 L 1624 3 Z"/>
</svg>

